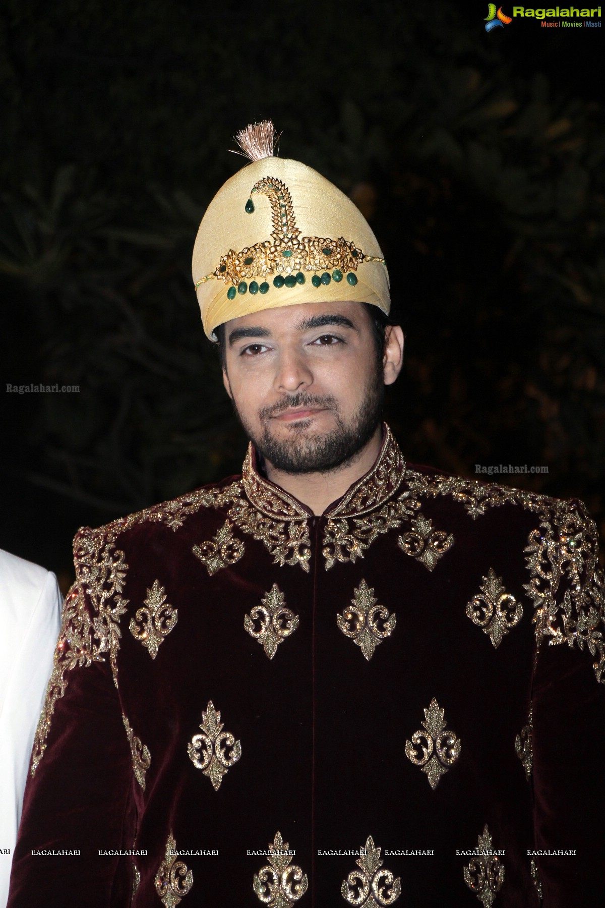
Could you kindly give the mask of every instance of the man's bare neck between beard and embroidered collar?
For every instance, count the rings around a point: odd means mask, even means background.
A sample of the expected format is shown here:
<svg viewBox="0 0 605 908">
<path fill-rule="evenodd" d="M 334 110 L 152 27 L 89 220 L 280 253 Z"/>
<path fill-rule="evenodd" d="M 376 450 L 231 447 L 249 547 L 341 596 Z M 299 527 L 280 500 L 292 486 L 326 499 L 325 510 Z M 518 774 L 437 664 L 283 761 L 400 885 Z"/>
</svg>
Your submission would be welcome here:
<svg viewBox="0 0 605 908">
<path fill-rule="evenodd" d="M 285 473 L 266 460 L 267 479 L 288 492 L 288 495 L 298 498 L 314 514 L 320 515 L 374 466 L 382 443 L 381 424 L 376 427 L 376 432 L 365 447 L 357 451 L 356 456 L 342 467 L 327 473 Z"/>
</svg>

